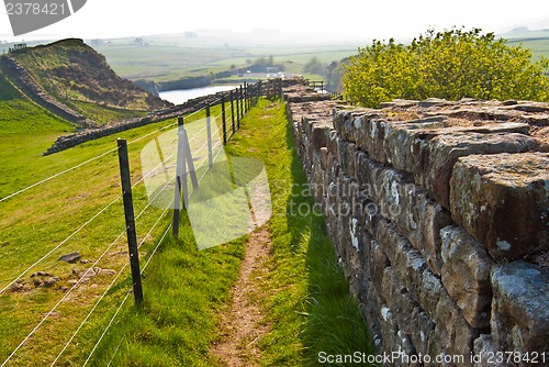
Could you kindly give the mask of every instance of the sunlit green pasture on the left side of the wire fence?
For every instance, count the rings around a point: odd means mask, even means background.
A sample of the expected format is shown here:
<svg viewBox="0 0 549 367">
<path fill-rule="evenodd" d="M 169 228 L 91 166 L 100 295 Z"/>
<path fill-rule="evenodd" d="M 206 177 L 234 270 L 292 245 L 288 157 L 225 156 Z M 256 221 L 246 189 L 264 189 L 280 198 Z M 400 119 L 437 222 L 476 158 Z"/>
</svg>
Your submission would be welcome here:
<svg viewBox="0 0 549 367">
<path fill-rule="evenodd" d="M 0 104 L 3 112 L 0 116 L 1 197 L 116 146 L 114 141 L 117 136 L 110 136 L 43 157 L 42 152 L 63 131 L 72 127 L 21 98 L 14 89 L 10 89 L 5 80 L 1 80 L 0 84 L 2 84 Z M 214 109 L 213 113 L 219 113 L 219 108 Z M 203 118 L 203 112 L 194 118 Z M 173 122 L 172 120 L 152 124 L 124 132 L 119 136 L 132 141 Z M 154 136 L 152 135 L 149 140 Z M 148 141 L 143 140 L 131 145 L 130 159 L 134 181 L 141 175 L 139 155 L 146 143 Z M 112 152 L 82 168 L 0 203 L 0 248 L 2 251 L 0 288 L 7 286 L 26 267 L 60 244 L 64 238 L 68 238 L 76 229 L 119 197 L 119 181 L 117 158 L 115 152 Z M 146 203 L 145 188 L 138 186 L 134 191 L 136 213 L 144 209 Z M 153 240 L 158 238 L 163 223 L 167 223 L 160 222 L 160 226 L 157 226 L 150 236 L 145 238 L 145 234 L 160 214 L 160 209 L 152 208 L 137 220 L 138 241 L 147 240 L 142 249 L 144 254 L 153 245 Z M 37 324 L 42 315 L 63 297 L 64 291 L 59 287 L 70 287 L 70 281 L 78 279 L 74 270 L 83 270 L 89 266 L 69 265 L 57 262 L 57 258 L 63 254 L 79 251 L 83 258 L 94 260 L 123 231 L 122 208 L 121 202 L 117 201 L 90 226 L 70 237 L 58 251 L 24 275 L 22 278 L 24 283 L 30 286 L 26 291 L 0 294 L 0 359 L 3 360 Z M 104 259 L 97 266 L 119 271 L 123 264 L 127 263 L 127 255 L 123 253 L 124 248 L 123 241 L 114 243 Z M 31 278 L 31 275 L 35 271 L 47 271 L 58 276 L 60 281 L 53 288 L 34 289 L 32 287 L 34 278 Z M 126 276 L 127 269 L 121 279 L 123 280 Z M 16 364 L 35 366 L 42 360 L 52 360 L 89 311 L 96 296 L 101 294 L 111 280 L 110 276 L 97 277 L 81 290 L 75 291 L 18 353 L 14 359 Z M 104 326 L 105 315 L 112 312 L 112 302 L 120 300 L 124 291 L 125 288 L 115 288 L 111 291 L 105 302 L 99 307 L 98 319 L 92 318 L 89 324 Z M 81 341 L 77 338 L 80 343 L 78 351 L 69 348 L 67 352 L 69 357 L 78 354 L 77 352 L 91 349 L 89 343 L 93 340 L 86 332 L 83 335 Z M 86 348 L 81 349 L 82 346 Z"/>
</svg>

